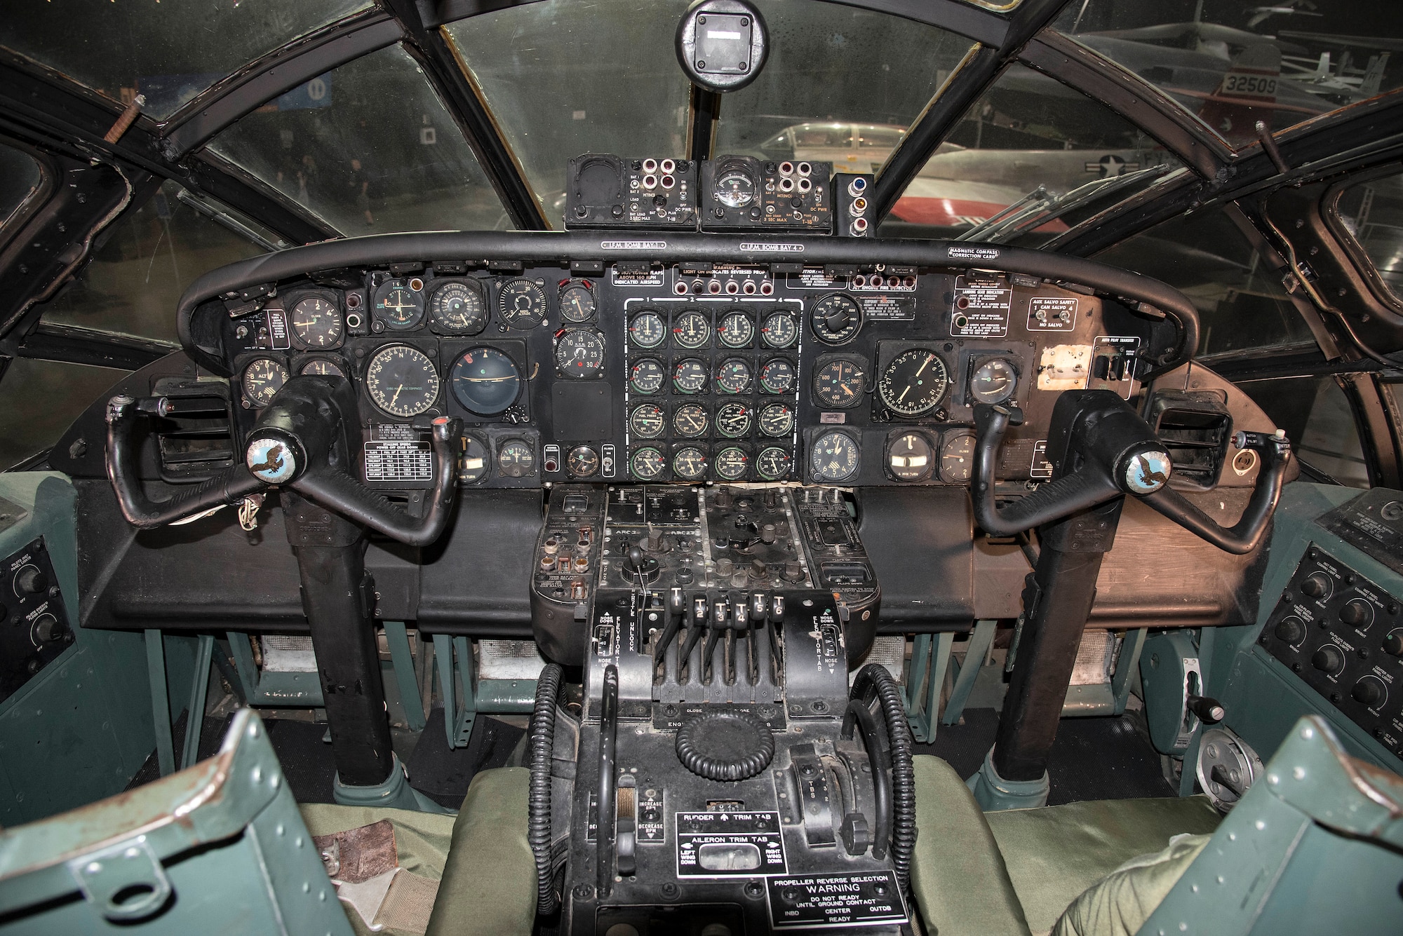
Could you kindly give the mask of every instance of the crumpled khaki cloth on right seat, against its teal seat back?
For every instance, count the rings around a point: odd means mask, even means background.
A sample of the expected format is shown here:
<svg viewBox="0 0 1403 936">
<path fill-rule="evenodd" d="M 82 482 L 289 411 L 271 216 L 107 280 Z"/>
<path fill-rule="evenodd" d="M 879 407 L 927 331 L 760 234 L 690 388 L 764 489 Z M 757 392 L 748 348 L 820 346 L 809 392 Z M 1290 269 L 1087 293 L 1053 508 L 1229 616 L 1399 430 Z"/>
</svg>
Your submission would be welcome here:
<svg viewBox="0 0 1403 936">
<path fill-rule="evenodd" d="M 1052 936 L 1135 936 L 1212 835 L 1176 835 L 1082 893 L 1058 918 Z"/>
</svg>

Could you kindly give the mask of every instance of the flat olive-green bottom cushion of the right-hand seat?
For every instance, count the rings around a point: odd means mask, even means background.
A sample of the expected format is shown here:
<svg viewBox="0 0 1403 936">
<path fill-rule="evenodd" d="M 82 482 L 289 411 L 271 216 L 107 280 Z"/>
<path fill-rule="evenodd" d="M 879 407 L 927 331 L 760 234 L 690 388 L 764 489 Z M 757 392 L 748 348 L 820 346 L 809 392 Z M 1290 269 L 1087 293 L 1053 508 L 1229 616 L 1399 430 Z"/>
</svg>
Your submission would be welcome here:
<svg viewBox="0 0 1403 936">
<path fill-rule="evenodd" d="M 1180 834 L 1218 828 L 1204 796 L 1092 800 L 1035 810 L 988 813 L 1005 867 L 1028 928 L 1052 929 L 1082 891 L 1139 855 L 1163 849 Z"/>
</svg>

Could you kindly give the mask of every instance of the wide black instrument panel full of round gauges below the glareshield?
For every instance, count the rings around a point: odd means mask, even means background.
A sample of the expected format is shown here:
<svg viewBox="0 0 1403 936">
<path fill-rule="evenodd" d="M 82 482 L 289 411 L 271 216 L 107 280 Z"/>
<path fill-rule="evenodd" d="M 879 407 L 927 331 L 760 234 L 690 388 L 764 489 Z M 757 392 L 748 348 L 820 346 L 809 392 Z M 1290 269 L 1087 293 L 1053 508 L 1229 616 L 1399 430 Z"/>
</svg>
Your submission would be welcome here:
<svg viewBox="0 0 1403 936">
<path fill-rule="evenodd" d="M 412 489 L 439 415 L 462 485 L 961 485 L 976 404 L 1024 412 L 1000 476 L 1041 479 L 1056 395 L 1129 397 L 1148 326 L 986 270 L 494 261 L 281 284 L 222 331 L 241 430 L 293 376 L 345 377 L 362 478 Z"/>
</svg>

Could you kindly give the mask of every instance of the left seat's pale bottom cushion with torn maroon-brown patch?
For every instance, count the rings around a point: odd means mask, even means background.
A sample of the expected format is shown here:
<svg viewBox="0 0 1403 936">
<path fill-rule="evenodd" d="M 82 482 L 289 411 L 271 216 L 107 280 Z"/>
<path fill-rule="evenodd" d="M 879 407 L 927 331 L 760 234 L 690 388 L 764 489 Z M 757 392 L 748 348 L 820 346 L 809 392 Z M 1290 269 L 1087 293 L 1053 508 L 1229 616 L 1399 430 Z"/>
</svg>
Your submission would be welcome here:
<svg viewBox="0 0 1403 936">
<path fill-rule="evenodd" d="M 302 818 L 324 853 L 334 851 L 338 897 L 356 936 L 422 933 L 438 893 L 453 815 L 303 803 Z M 330 865 L 328 865 L 330 870 Z"/>
</svg>

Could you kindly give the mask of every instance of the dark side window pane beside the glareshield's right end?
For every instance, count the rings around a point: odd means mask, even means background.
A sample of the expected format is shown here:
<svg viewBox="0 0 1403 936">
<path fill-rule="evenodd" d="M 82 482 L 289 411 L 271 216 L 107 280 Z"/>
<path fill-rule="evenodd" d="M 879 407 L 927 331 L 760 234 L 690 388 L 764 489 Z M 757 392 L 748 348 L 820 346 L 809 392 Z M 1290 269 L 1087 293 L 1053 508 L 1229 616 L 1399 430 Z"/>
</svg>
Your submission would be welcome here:
<svg viewBox="0 0 1403 936">
<path fill-rule="evenodd" d="M 1198 353 L 1313 342 L 1310 328 L 1225 209 L 1164 221 L 1103 251 L 1103 263 L 1177 287 L 1198 310 Z"/>
</svg>

